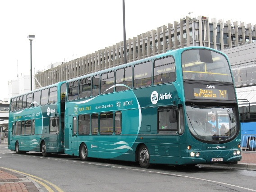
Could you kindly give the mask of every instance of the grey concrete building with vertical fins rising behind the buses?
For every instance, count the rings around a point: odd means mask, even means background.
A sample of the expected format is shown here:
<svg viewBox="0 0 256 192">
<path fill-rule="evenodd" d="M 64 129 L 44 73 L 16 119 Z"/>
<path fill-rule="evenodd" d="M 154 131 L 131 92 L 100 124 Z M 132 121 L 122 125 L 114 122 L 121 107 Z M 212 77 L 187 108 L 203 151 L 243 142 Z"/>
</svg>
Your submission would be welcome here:
<svg viewBox="0 0 256 192">
<path fill-rule="evenodd" d="M 129 38 L 108 47 L 87 53 L 69 62 L 53 64 L 50 69 L 35 75 L 35 87 L 44 87 L 55 82 L 76 78 L 85 74 L 108 69 L 124 63 L 127 47 L 127 62 L 164 53 L 187 46 L 206 46 L 225 52 L 227 48 L 256 42 L 256 25 L 251 23 L 224 22 L 222 19 L 181 18 L 168 24 Z M 256 79 L 256 78 L 255 78 Z"/>
</svg>

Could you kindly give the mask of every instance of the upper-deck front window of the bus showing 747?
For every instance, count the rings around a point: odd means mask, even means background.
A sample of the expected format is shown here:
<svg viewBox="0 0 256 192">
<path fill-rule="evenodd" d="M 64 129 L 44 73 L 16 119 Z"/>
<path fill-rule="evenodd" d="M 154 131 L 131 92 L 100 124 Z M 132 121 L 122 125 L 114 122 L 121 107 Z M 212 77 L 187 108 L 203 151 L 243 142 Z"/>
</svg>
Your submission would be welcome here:
<svg viewBox="0 0 256 192">
<path fill-rule="evenodd" d="M 183 79 L 232 82 L 224 55 L 211 50 L 186 50 L 182 54 Z"/>
</svg>

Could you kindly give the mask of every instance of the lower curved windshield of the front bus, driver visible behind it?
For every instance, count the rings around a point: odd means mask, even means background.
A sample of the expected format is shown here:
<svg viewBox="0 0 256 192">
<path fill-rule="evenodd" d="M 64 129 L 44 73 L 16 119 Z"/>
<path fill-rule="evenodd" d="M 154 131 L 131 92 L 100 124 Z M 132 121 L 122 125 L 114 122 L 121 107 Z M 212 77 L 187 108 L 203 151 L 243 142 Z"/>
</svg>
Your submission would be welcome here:
<svg viewBox="0 0 256 192">
<path fill-rule="evenodd" d="M 236 136 L 237 119 L 233 107 L 186 106 L 187 125 L 194 137 L 203 141 L 224 141 Z"/>
</svg>

